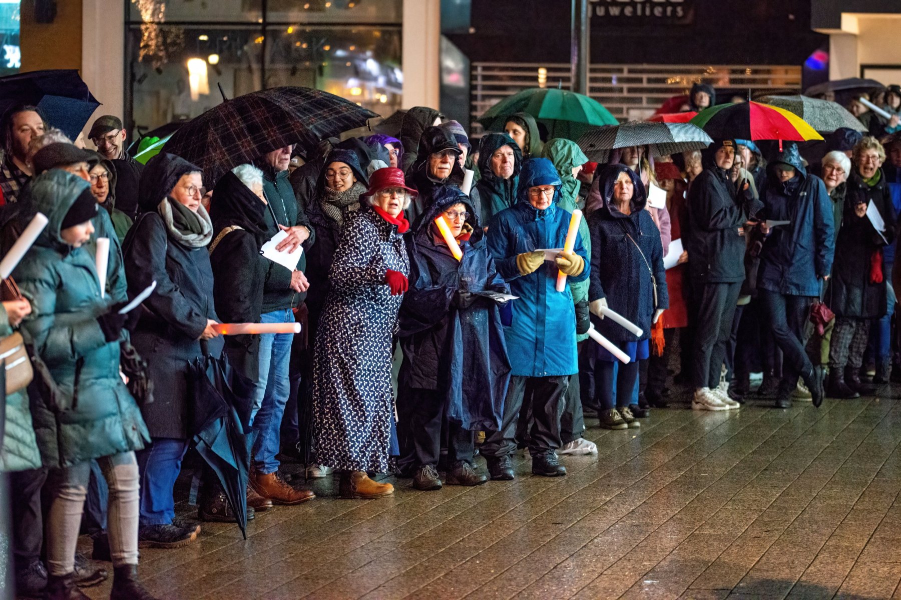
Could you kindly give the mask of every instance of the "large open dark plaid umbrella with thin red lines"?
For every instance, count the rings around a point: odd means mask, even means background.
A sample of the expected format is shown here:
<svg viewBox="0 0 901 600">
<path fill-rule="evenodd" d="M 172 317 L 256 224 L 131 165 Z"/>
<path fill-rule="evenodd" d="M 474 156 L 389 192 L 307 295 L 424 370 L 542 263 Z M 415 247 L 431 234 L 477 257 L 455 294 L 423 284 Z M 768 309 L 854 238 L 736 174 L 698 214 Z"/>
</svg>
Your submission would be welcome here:
<svg viewBox="0 0 901 600">
<path fill-rule="evenodd" d="M 166 151 L 202 168 L 211 187 L 234 166 L 292 144 L 314 150 L 321 139 L 374 117 L 378 114 L 328 92 L 273 87 L 226 100 L 188 121 L 168 139 Z"/>
</svg>

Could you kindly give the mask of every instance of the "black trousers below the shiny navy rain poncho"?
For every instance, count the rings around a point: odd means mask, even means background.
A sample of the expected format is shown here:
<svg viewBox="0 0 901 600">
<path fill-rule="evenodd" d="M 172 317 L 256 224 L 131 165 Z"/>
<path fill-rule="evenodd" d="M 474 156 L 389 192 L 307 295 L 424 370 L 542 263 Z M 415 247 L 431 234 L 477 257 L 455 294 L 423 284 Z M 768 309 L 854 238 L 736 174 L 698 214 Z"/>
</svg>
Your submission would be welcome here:
<svg viewBox="0 0 901 600">
<path fill-rule="evenodd" d="M 441 425 L 447 421 L 447 404 L 438 390 L 407 390 L 410 411 L 407 414 L 410 427 L 407 430 L 413 445 L 417 467 L 438 465 L 441 457 Z M 476 452 L 475 432 L 447 422 L 448 469 L 455 462 L 472 462 Z"/>
</svg>

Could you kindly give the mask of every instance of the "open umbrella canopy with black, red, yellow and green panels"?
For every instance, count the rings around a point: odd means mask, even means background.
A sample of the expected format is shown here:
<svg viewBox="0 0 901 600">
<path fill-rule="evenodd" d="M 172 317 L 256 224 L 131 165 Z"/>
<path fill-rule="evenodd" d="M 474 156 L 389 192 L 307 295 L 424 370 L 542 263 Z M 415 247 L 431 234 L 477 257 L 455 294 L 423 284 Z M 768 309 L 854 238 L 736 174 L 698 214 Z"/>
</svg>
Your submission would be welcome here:
<svg viewBox="0 0 901 600">
<path fill-rule="evenodd" d="M 717 104 L 698 112 L 691 123 L 714 139 L 823 139 L 794 112 L 757 102 Z"/>
</svg>

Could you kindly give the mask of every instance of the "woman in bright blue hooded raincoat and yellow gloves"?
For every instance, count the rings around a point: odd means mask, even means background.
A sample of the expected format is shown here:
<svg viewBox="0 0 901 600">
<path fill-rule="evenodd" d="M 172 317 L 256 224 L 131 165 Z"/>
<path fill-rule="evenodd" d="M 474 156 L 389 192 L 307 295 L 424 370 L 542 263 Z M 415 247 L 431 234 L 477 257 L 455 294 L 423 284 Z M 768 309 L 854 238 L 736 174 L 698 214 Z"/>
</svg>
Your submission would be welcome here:
<svg viewBox="0 0 901 600">
<path fill-rule="evenodd" d="M 504 333 L 513 367 L 507 389 L 501 430 L 488 436 L 481 453 L 492 479 L 513 479 L 510 454 L 516 449 L 514 431 L 523 398 L 532 401 L 529 452 L 532 473 L 565 475 L 557 459 L 560 447 L 560 405 L 569 376 L 578 372 L 576 311 L 570 282 L 588 277 L 582 237 L 574 251 L 559 252 L 545 261 L 544 250 L 561 248 L 571 214 L 557 205 L 560 177 L 547 158 L 523 162 L 519 201 L 497 213 L 488 225 L 488 249 L 497 273 L 510 284 L 517 300 L 505 308 Z M 567 274 L 564 291 L 557 291 L 557 273 Z"/>
</svg>

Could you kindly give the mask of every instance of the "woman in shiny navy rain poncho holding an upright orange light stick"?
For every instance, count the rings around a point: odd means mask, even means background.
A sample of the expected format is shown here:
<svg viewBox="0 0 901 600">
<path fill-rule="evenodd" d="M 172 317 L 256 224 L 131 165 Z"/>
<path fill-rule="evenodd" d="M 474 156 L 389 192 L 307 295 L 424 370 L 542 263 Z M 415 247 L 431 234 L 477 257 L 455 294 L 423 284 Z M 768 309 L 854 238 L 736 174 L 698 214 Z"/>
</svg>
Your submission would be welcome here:
<svg viewBox="0 0 901 600">
<path fill-rule="evenodd" d="M 438 216 L 460 245 L 460 261 L 434 224 Z M 433 193 L 406 247 L 411 283 L 400 308 L 399 381 L 410 411 L 400 426 L 413 442 L 414 487 L 441 488 L 435 466 L 445 420 L 447 483 L 479 485 L 487 478 L 472 468 L 474 432 L 500 427 L 510 361 L 496 301 L 478 294 L 509 289 L 496 272 L 469 196 L 454 185 Z"/>
</svg>

